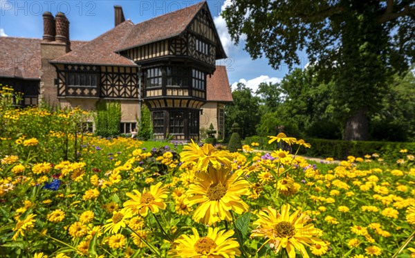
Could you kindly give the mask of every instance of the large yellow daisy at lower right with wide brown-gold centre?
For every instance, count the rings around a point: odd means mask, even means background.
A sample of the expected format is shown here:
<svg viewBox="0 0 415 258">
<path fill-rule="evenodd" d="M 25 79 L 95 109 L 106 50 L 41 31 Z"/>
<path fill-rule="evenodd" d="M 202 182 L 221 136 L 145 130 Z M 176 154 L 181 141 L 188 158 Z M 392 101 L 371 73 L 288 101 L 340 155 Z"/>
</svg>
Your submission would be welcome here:
<svg viewBox="0 0 415 258">
<path fill-rule="evenodd" d="M 274 208 L 264 208 L 257 214 L 259 219 L 253 223 L 257 228 L 252 230 L 250 237 L 264 237 L 265 243 L 269 243 L 275 253 L 285 248 L 288 257 L 292 258 L 295 257 L 295 249 L 298 249 L 302 256 L 308 257 L 304 246 L 325 245 L 324 241 L 317 238 L 322 231 L 308 223 L 310 217 L 300 210 L 291 216 L 289 212 L 289 204 L 282 205 L 281 214 Z"/>
</svg>

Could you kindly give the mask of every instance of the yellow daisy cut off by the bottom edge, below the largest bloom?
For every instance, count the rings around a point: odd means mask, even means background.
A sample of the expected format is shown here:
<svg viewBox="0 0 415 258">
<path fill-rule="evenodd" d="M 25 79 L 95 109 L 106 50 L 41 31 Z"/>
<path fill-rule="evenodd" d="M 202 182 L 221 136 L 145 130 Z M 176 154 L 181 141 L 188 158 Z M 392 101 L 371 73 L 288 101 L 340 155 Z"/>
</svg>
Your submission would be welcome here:
<svg viewBox="0 0 415 258">
<path fill-rule="evenodd" d="M 195 228 L 193 234 L 182 234 L 174 241 L 177 246 L 171 250 L 172 257 L 181 258 L 234 258 L 241 255 L 239 243 L 232 238 L 234 231 L 219 231 L 218 228 L 208 228 L 208 235 L 200 237 Z"/>
</svg>

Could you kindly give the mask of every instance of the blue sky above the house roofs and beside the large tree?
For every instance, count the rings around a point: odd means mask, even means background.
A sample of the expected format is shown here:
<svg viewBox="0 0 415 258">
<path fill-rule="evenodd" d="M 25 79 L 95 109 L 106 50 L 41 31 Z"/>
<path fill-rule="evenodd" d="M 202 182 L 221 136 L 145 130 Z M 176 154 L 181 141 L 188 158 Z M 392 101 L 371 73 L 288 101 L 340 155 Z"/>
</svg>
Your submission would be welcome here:
<svg viewBox="0 0 415 258">
<path fill-rule="evenodd" d="M 122 6 L 125 18 L 131 19 L 134 24 L 137 24 L 198 2 L 199 0 L 0 0 L 0 35 L 42 38 L 43 12 L 50 11 L 53 15 L 56 15 L 57 12 L 61 11 L 66 14 L 71 23 L 71 40 L 91 40 L 113 28 L 114 5 Z M 234 46 L 229 37 L 225 21 L 220 16 L 223 6 L 227 4 L 229 4 L 229 0 L 208 0 L 216 29 L 228 55 L 228 59 L 218 60 L 218 64 L 227 67 L 230 84 L 243 82 L 255 91 L 257 85 L 261 82 L 278 82 L 281 80 L 288 73 L 288 68 L 284 64 L 274 70 L 268 65 L 268 60 L 265 58 L 252 60 L 248 53 L 243 50 L 243 40 L 239 43 L 239 46 Z M 307 61 L 306 56 L 304 55 L 300 59 L 302 64 L 297 67 L 304 68 Z"/>
</svg>

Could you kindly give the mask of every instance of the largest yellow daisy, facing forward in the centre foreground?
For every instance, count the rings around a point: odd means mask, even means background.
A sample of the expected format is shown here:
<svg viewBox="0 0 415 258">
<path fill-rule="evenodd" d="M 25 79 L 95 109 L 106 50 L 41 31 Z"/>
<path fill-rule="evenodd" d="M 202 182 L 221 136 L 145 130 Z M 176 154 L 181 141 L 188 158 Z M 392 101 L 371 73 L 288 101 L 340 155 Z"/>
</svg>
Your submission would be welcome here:
<svg viewBox="0 0 415 258">
<path fill-rule="evenodd" d="M 249 194 L 249 182 L 239 178 L 238 173 L 230 175 L 230 169 L 209 167 L 208 179 L 198 181 L 189 186 L 187 205 L 199 203 L 192 219 L 212 225 L 217 221 L 232 221 L 230 210 L 242 214 L 248 205 L 242 201 L 241 195 Z"/>
</svg>

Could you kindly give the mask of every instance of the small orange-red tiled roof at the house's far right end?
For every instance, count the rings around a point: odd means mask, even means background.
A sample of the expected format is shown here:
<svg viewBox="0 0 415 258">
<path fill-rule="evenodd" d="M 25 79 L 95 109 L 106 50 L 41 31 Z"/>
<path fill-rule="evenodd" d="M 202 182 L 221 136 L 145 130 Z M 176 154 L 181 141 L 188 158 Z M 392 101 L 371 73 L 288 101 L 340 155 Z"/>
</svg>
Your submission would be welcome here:
<svg viewBox="0 0 415 258">
<path fill-rule="evenodd" d="M 206 100 L 216 102 L 232 102 L 232 93 L 226 66 L 216 66 L 213 75 L 206 79 Z"/>
</svg>

